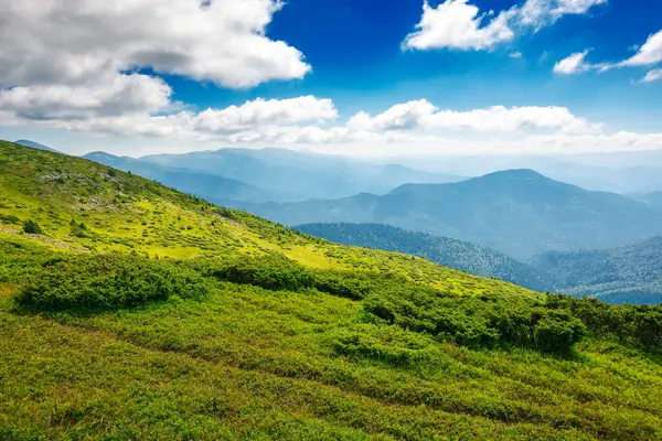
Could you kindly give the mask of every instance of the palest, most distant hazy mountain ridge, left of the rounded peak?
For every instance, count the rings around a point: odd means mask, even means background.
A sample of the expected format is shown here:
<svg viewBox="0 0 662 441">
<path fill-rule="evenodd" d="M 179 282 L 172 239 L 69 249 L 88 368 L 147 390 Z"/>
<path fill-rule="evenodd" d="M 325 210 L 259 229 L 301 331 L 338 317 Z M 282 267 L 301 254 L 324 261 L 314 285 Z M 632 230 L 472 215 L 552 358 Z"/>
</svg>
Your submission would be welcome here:
<svg viewBox="0 0 662 441">
<path fill-rule="evenodd" d="M 141 161 L 222 175 L 308 198 L 337 198 L 362 192 L 386 193 L 404 183 L 457 182 L 460 176 L 428 173 L 404 165 L 380 165 L 325 154 L 284 149 L 221 149 L 186 154 L 158 154 Z"/>
</svg>

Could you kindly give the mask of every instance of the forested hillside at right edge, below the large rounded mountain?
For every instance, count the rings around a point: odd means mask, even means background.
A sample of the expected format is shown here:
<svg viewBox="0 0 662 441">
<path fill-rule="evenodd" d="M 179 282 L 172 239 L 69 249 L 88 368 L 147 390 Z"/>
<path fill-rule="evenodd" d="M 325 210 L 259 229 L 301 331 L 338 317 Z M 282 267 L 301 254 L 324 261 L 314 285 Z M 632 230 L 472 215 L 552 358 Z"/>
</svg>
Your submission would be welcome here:
<svg viewBox="0 0 662 441">
<path fill-rule="evenodd" d="M 662 302 L 662 237 L 618 248 L 549 251 L 528 263 L 556 280 L 555 289 L 610 303 Z"/>
</svg>

